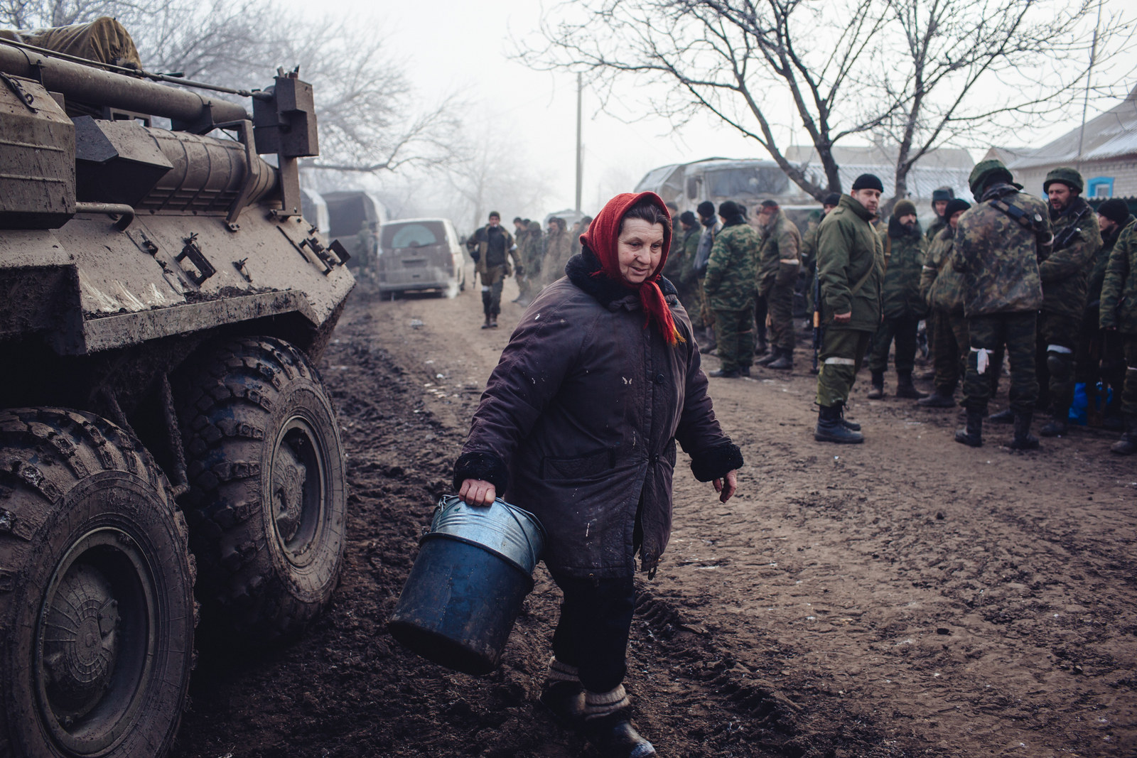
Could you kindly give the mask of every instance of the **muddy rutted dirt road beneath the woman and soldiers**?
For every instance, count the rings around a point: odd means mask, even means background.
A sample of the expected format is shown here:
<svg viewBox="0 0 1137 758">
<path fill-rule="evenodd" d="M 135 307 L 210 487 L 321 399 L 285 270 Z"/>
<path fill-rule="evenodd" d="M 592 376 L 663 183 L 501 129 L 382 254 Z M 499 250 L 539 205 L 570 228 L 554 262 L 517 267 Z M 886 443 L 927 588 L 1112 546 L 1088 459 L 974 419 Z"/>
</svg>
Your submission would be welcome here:
<svg viewBox="0 0 1137 758">
<path fill-rule="evenodd" d="M 557 602 L 543 568 L 489 676 L 385 631 L 520 315 L 482 331 L 475 292 L 352 295 L 322 366 L 352 489 L 341 585 L 289 647 L 202 635 L 179 757 L 594 755 L 534 707 Z M 863 376 L 849 416 L 866 442 L 822 445 L 797 359 L 711 382 L 746 458 L 733 500 L 680 453 L 626 683 L 659 753 L 1137 755 L 1137 460 L 1086 428 L 1013 453 L 996 426 L 965 448 L 956 411 L 869 401 Z"/>
</svg>

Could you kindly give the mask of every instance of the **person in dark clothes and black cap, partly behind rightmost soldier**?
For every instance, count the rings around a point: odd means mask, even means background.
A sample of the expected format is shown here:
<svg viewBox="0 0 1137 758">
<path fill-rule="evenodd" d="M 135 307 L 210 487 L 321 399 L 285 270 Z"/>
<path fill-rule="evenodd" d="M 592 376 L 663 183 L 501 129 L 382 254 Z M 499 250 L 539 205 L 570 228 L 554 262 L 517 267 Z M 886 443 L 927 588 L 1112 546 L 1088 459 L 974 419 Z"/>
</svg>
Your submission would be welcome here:
<svg viewBox="0 0 1137 758">
<path fill-rule="evenodd" d="M 1124 428 L 1121 417 L 1121 388 L 1126 381 L 1126 357 L 1121 335 L 1101 328 L 1102 286 L 1110 253 L 1121 239 L 1121 233 L 1134 223 L 1129 206 L 1120 198 L 1106 200 L 1097 207 L 1097 226 L 1102 230 L 1102 247 L 1094 258 L 1094 265 L 1086 283 L 1086 315 L 1081 322 L 1078 340 L 1076 381 L 1086 385 L 1087 411 L 1093 422 L 1094 398 L 1098 382 L 1103 386 L 1102 403 L 1105 406 L 1102 426 L 1120 432 Z M 1111 392 L 1112 390 L 1112 392 Z M 1106 395 L 1109 401 L 1106 402 Z"/>
</svg>

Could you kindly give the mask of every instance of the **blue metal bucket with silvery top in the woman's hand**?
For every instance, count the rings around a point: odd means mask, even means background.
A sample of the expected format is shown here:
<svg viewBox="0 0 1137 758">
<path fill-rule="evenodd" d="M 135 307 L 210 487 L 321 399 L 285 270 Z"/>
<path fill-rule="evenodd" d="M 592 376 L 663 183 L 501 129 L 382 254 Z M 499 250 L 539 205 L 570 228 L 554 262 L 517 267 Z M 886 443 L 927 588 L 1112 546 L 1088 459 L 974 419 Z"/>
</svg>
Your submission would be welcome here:
<svg viewBox="0 0 1137 758">
<path fill-rule="evenodd" d="M 388 622 L 391 635 L 447 668 L 488 674 L 543 548 L 545 530 L 529 511 L 500 498 L 475 508 L 443 497 Z"/>
</svg>

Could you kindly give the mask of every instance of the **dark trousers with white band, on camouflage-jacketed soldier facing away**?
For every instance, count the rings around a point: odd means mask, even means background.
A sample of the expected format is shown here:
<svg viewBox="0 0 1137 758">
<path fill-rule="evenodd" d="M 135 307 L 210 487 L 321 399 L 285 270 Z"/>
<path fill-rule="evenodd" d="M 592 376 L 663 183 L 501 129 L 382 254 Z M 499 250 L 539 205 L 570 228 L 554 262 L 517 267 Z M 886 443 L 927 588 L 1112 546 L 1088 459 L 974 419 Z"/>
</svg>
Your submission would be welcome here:
<svg viewBox="0 0 1137 758">
<path fill-rule="evenodd" d="M 1032 413 L 1038 400 L 1038 380 L 1035 377 L 1035 320 L 1034 310 L 1016 314 L 991 314 L 968 319 L 968 374 L 963 380 L 963 407 L 987 413 L 991 395 L 990 372 L 999 370 L 994 353 L 1006 345 L 1011 359 L 1011 389 L 1007 399 L 1016 414 Z M 982 372 L 980 356 L 984 356 Z"/>
</svg>

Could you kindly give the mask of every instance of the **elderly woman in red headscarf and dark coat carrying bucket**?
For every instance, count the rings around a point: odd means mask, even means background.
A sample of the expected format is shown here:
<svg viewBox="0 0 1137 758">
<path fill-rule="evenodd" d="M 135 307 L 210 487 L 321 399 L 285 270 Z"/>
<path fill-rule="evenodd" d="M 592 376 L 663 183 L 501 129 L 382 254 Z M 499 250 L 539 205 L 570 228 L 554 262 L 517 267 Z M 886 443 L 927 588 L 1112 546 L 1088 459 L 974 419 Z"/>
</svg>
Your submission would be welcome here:
<svg viewBox="0 0 1137 758">
<path fill-rule="evenodd" d="M 455 465 L 465 502 L 533 513 L 564 592 L 541 701 L 612 755 L 655 755 L 623 688 L 636 553 L 655 575 L 671 532 L 675 441 L 720 500 L 739 449 L 715 420 L 699 351 L 663 278 L 671 219 L 652 192 L 619 194 L 566 276 L 529 306 Z"/>
</svg>

